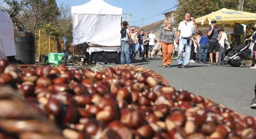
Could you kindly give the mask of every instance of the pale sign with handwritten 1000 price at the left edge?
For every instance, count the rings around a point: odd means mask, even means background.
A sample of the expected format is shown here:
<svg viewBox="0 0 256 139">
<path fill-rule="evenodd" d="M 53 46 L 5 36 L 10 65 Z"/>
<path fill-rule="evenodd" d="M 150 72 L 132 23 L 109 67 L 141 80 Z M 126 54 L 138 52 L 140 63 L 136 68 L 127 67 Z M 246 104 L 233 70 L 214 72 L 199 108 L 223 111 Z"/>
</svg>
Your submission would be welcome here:
<svg viewBox="0 0 256 139">
<path fill-rule="evenodd" d="M 16 55 L 13 23 L 10 16 L 0 8 L 0 51 L 1 49 L 5 56 Z"/>
</svg>

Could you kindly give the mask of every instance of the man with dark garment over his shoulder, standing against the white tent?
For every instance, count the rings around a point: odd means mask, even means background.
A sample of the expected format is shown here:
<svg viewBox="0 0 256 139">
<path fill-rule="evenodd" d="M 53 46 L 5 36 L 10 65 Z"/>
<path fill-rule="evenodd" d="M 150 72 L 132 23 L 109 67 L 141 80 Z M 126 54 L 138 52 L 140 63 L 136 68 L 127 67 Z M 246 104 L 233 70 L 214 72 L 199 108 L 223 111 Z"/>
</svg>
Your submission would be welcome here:
<svg viewBox="0 0 256 139">
<path fill-rule="evenodd" d="M 130 53 L 129 53 L 129 44 L 128 40 L 129 37 L 131 37 L 131 33 L 127 27 L 127 21 L 123 22 L 123 28 L 120 31 L 121 33 L 121 65 L 125 64 L 125 59 L 126 59 L 126 64 L 131 65 L 131 58 L 130 58 Z"/>
</svg>

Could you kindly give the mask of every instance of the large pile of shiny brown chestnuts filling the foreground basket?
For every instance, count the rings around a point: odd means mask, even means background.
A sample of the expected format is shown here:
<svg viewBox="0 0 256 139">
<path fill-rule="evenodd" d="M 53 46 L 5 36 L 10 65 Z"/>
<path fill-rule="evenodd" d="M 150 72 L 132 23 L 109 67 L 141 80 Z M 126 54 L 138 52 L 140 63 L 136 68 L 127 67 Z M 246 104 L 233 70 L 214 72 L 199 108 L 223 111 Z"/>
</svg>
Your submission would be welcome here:
<svg viewBox="0 0 256 139">
<path fill-rule="evenodd" d="M 256 138 L 254 117 L 177 91 L 161 75 L 142 67 L 122 65 L 93 72 L 64 65 L 22 67 L 1 60 L 0 86 L 18 90 L 67 139 Z M 13 115 L 23 114 L 0 111 L 0 118 Z M 0 121 L 0 133 L 20 137 L 20 132 L 7 128 Z"/>
</svg>

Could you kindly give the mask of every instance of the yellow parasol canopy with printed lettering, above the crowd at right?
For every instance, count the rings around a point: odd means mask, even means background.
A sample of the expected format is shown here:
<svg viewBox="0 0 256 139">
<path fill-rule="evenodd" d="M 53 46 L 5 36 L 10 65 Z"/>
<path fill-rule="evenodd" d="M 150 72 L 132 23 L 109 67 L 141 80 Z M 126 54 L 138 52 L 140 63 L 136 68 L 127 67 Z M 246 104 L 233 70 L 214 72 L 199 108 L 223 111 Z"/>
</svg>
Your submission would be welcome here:
<svg viewBox="0 0 256 139">
<path fill-rule="evenodd" d="M 234 27 L 235 23 L 255 23 L 256 13 L 235 11 L 223 8 L 208 15 L 199 17 L 195 19 L 195 22 L 199 25 L 199 27 L 209 27 L 209 21 L 213 19 L 217 20 L 217 25 L 223 25 L 223 27 Z"/>
</svg>

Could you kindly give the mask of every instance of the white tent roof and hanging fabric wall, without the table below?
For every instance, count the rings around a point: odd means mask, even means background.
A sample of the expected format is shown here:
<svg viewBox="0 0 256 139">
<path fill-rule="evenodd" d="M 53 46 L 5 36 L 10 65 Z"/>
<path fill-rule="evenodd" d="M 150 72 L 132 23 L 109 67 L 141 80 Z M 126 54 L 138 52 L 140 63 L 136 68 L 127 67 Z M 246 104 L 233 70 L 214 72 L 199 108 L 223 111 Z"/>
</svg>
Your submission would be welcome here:
<svg viewBox="0 0 256 139">
<path fill-rule="evenodd" d="M 83 5 L 71 6 L 73 43 L 85 42 L 104 46 L 121 43 L 122 8 L 103 0 L 91 0 Z"/>
</svg>

